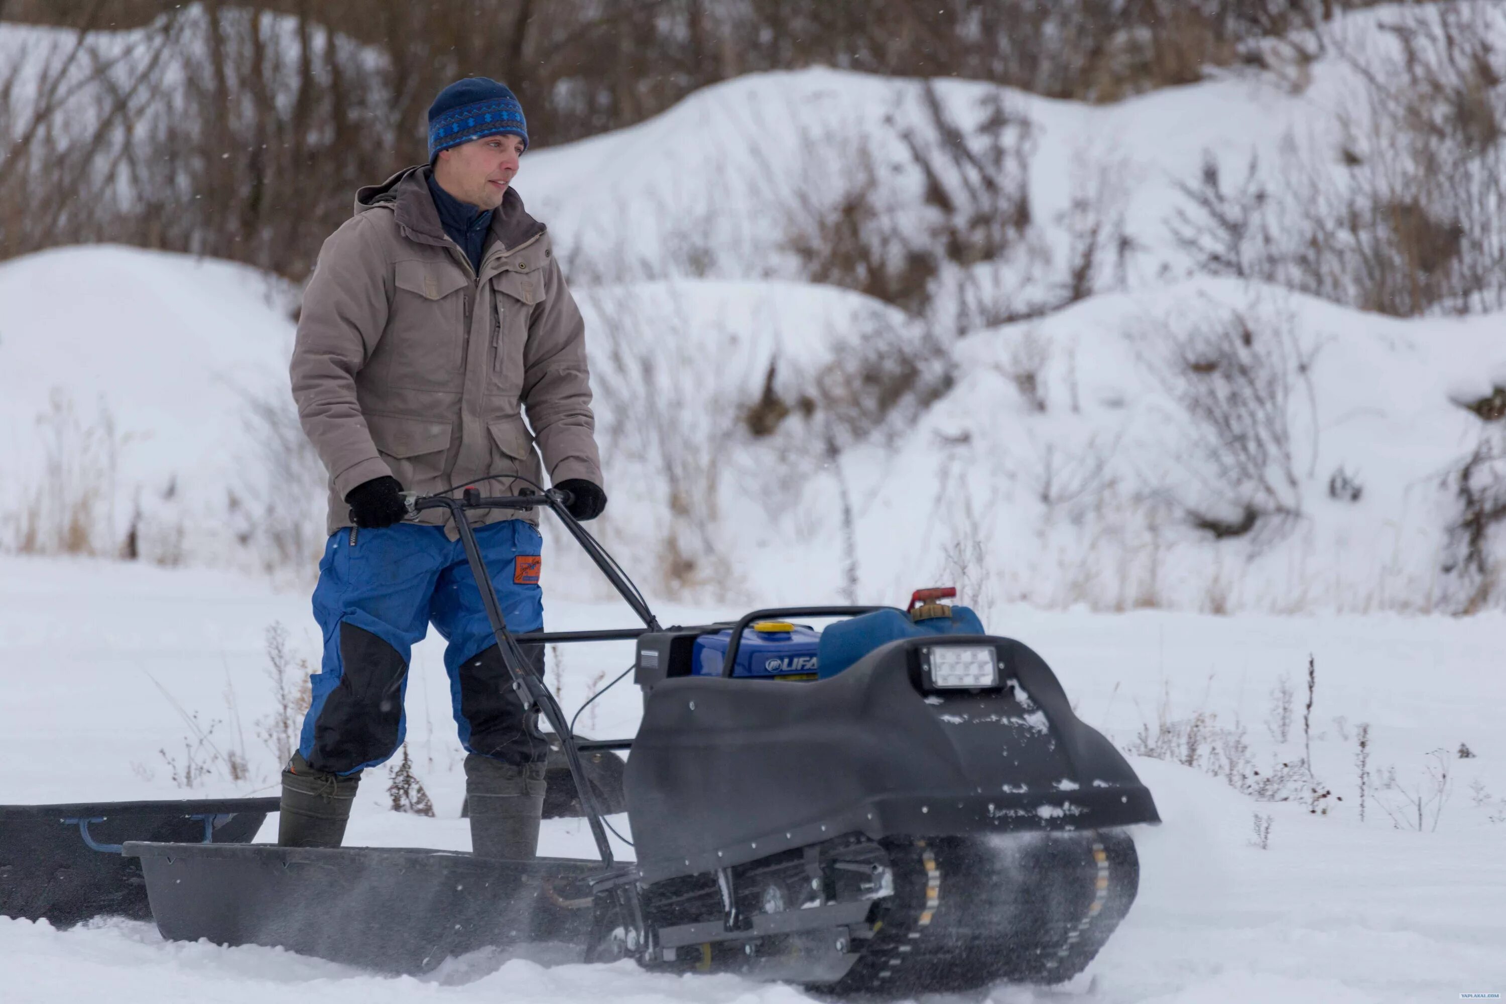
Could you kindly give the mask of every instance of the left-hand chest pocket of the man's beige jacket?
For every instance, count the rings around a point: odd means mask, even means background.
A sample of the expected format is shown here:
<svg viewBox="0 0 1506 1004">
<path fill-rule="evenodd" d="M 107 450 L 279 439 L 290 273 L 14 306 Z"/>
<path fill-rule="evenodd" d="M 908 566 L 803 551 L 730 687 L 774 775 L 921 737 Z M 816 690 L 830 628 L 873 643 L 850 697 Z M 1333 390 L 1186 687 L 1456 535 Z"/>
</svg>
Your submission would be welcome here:
<svg viewBox="0 0 1506 1004">
<path fill-rule="evenodd" d="M 449 263 L 398 262 L 392 312 L 389 381 L 396 387 L 459 390 L 470 280 Z"/>
</svg>

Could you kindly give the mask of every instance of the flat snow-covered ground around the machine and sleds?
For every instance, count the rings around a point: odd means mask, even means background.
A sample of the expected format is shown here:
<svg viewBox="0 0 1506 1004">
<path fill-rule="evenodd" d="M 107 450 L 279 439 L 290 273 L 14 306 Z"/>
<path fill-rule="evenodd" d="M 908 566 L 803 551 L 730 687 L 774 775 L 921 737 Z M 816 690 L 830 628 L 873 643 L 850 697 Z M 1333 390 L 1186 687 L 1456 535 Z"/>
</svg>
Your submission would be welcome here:
<svg viewBox="0 0 1506 1004">
<path fill-rule="evenodd" d="M 764 596 L 773 601 L 773 596 Z M 658 605 L 666 622 L 727 610 Z M 630 625 L 620 605 L 550 601 L 551 628 Z M 104 561 L 0 558 L 0 804 L 176 798 L 270 792 L 276 759 L 258 739 L 273 710 L 264 631 L 280 622 L 295 653 L 316 658 L 307 601 L 258 580 L 208 570 L 163 570 Z M 1248 730 L 1258 762 L 1298 757 L 1304 673 L 1315 659 L 1310 733 L 1316 774 L 1333 796 L 1327 814 L 1303 802 L 1256 802 L 1218 778 L 1164 760 L 1133 760 L 1164 823 L 1140 828 L 1140 896 L 1089 971 L 1066 987 L 995 987 L 968 1001 L 1354 1001 L 1398 1004 L 1506 992 L 1506 706 L 1500 638 L 1506 622 L 1396 616 L 1209 617 L 1142 611 L 1095 614 L 1006 607 L 992 629 L 1024 640 L 1053 665 L 1078 713 L 1134 747 L 1142 726 L 1205 712 Z M 551 673 L 568 709 L 626 665 L 620 644 L 578 646 Z M 1297 691 L 1286 744 L 1267 732 L 1274 688 Z M 630 683 L 586 712 L 583 732 L 631 733 Z M 229 781 L 215 766 L 202 786 L 173 784 L 167 757 L 184 765 L 182 715 L 223 753 L 244 751 L 252 777 Z M 392 813 L 386 769 L 367 774 L 349 843 L 467 846 L 458 819 L 464 790 L 449 721 L 440 643 L 425 641 L 408 689 L 414 771 L 437 817 Z M 1370 726 L 1372 790 L 1358 820 L 1355 732 Z M 244 738 L 242 738 L 244 736 Z M 1467 744 L 1476 756 L 1458 759 Z M 1395 768 L 1417 787 L 1431 750 L 1443 748 L 1450 789 L 1437 831 L 1396 829 L 1375 799 Z M 200 750 L 200 759 L 211 759 Z M 1486 801 L 1471 792 L 1489 792 Z M 1342 801 L 1336 801 L 1342 799 Z M 1476 804 L 1479 802 L 1479 804 Z M 1270 816 L 1268 847 L 1254 846 L 1256 816 Z M 1405 819 L 1405 816 L 1402 816 Z M 617 820 L 619 828 L 625 819 Z M 261 838 L 271 838 L 273 822 Z M 574 820 L 550 822 L 545 850 L 589 855 Z M 631 850 L 622 849 L 625 856 Z M 104 921 L 57 932 L 0 920 L 0 974 L 9 1001 L 93 995 L 111 1001 L 256 1001 L 313 995 L 343 1001 L 794 1001 L 792 987 L 733 977 L 672 978 L 633 965 L 592 968 L 548 960 L 468 957 L 423 980 L 384 978 L 264 948 L 163 942 L 151 924 Z"/>
</svg>

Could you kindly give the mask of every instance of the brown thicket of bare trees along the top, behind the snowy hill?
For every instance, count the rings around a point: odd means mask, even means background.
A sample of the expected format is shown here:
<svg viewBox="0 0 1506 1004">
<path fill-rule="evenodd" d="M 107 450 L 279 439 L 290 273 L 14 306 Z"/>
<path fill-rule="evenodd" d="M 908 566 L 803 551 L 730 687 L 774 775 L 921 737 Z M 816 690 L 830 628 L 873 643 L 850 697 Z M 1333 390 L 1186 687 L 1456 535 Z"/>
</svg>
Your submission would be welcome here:
<svg viewBox="0 0 1506 1004">
<path fill-rule="evenodd" d="M 640 122 L 718 80 L 812 65 L 1114 101 L 1261 60 L 1261 39 L 1316 39 L 1334 12 L 1369 3 L 554 0 L 476 17 L 468 0 L 8 0 L 6 18 L 72 33 L 41 84 L 17 77 L 39 114 L 17 102 L 0 141 L 27 178 L 0 193 L 0 253 L 114 239 L 301 275 L 357 184 L 422 160 L 416 123 L 435 90 L 498 65 L 542 145 Z M 122 41 L 139 51 L 125 57 Z M 86 126 L 68 134 L 68 101 L 99 114 L 74 116 Z M 78 197 L 45 199 L 59 188 Z M 670 254 L 697 268 L 709 250 Z"/>
</svg>

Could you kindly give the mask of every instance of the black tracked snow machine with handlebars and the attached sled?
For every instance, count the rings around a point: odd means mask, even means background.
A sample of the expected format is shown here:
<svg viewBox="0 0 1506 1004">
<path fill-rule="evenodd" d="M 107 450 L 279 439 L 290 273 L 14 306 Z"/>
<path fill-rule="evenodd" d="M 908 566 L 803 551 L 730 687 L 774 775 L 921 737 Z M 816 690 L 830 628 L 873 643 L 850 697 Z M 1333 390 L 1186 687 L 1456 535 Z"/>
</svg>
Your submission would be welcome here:
<svg viewBox="0 0 1506 1004">
<path fill-rule="evenodd" d="M 934 602 L 950 590 L 917 595 L 913 611 L 762 610 L 666 629 L 568 501 L 467 489 L 411 506 L 449 509 L 514 685 L 553 727 L 601 859 L 128 843 L 164 936 L 398 972 L 550 944 L 562 948 L 551 957 L 884 996 L 1057 983 L 1093 959 L 1136 894 L 1125 826 L 1160 819 L 1035 652 Z M 465 510 L 530 507 L 562 519 L 645 623 L 524 635 L 636 638 L 645 713 L 631 741 L 572 736 L 503 623 Z M 791 617 L 848 620 L 812 641 Z M 613 859 L 583 765 L 611 748 L 631 750 L 636 863 Z"/>
</svg>

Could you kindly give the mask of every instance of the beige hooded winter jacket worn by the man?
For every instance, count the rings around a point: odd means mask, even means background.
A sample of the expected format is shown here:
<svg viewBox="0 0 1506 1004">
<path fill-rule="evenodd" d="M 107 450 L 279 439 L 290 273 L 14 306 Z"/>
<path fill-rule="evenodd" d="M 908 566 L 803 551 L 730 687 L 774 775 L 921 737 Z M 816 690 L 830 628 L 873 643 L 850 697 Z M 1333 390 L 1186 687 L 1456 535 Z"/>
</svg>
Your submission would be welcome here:
<svg viewBox="0 0 1506 1004">
<path fill-rule="evenodd" d="M 509 188 L 474 274 L 440 226 L 428 170 L 361 188 L 304 294 L 292 396 L 330 473 L 330 533 L 351 525 L 345 494 L 383 474 L 425 494 L 512 494 L 520 476 L 547 485 L 544 470 L 548 483 L 602 483 L 584 324 L 550 235 Z"/>
</svg>

